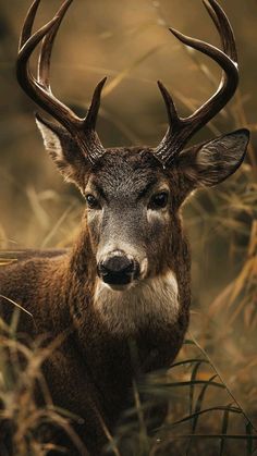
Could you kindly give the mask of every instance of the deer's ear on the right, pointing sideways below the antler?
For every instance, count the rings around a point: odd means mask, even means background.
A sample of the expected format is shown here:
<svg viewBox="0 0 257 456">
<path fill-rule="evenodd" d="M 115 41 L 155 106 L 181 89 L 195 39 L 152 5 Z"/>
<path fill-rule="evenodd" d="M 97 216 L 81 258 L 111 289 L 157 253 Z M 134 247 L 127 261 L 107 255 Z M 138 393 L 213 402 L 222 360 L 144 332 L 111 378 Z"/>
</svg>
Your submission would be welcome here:
<svg viewBox="0 0 257 456">
<path fill-rule="evenodd" d="M 194 182 L 194 187 L 212 186 L 233 174 L 244 160 L 249 141 L 248 130 L 237 130 L 180 156 L 180 168 Z"/>
</svg>

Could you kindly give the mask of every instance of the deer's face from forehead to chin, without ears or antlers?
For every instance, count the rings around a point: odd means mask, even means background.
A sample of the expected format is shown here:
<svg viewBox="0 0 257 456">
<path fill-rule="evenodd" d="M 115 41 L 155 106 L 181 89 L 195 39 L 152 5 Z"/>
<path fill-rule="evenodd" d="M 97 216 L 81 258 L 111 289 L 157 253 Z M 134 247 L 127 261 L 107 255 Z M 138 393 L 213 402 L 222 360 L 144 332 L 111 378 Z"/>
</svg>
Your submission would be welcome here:
<svg viewBox="0 0 257 456">
<path fill-rule="evenodd" d="M 108 152 L 85 187 L 87 223 L 98 275 L 112 288 L 136 284 L 164 267 L 172 196 L 162 167 L 148 152 Z"/>
</svg>

